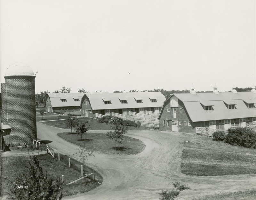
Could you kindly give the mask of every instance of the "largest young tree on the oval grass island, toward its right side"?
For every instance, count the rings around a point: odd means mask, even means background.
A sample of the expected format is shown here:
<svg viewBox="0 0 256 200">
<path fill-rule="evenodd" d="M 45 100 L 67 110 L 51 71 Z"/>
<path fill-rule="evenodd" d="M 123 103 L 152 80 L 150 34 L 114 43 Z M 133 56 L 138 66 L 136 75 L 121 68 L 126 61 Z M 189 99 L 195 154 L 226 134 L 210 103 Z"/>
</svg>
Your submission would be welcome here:
<svg viewBox="0 0 256 200">
<path fill-rule="evenodd" d="M 127 132 L 126 124 L 118 117 L 112 117 L 110 124 L 112 124 L 111 128 L 114 131 L 107 132 L 108 139 L 122 144 L 122 140 L 124 139 L 123 134 Z"/>
</svg>

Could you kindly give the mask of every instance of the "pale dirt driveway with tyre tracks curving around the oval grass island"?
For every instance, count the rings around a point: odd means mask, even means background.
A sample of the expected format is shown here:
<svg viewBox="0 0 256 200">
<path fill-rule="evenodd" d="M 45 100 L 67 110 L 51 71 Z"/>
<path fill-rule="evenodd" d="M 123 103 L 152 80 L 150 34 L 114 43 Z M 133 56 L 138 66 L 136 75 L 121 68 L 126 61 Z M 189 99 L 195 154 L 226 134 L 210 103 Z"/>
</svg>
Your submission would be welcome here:
<svg viewBox="0 0 256 200">
<path fill-rule="evenodd" d="M 37 137 L 40 140 L 52 140 L 49 144 L 51 147 L 76 157 L 77 146 L 60 139 L 57 136 L 59 132 L 70 132 L 70 130 L 37 123 Z M 182 174 L 181 143 L 190 140 L 193 137 L 191 135 L 151 130 L 128 131 L 125 135 L 142 140 L 146 145 L 145 150 L 140 154 L 128 156 L 94 153 L 95 157 L 90 157 L 87 164 L 100 172 L 104 180 L 102 185 L 88 193 L 63 199 L 159 199 L 156 192 L 172 188 L 172 182 L 176 180 L 191 187 L 191 190 L 183 191 L 179 199 L 255 188 L 255 175 L 196 177 Z"/>
</svg>

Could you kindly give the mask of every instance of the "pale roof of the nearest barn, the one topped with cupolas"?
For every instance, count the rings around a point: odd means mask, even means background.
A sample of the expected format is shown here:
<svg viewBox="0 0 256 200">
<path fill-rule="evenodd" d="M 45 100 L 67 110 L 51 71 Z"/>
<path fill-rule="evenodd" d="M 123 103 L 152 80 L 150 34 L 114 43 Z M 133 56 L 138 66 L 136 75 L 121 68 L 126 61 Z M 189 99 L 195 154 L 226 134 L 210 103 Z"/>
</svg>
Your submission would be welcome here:
<svg viewBox="0 0 256 200">
<path fill-rule="evenodd" d="M 173 95 L 183 102 L 192 122 L 256 116 L 256 109 L 248 108 L 245 104 L 255 103 L 256 96 L 253 92 L 219 92 L 219 94 L 212 92 L 196 93 L 194 95 L 190 93 L 182 93 Z M 236 109 L 228 109 L 228 105 L 235 105 Z M 212 110 L 206 111 L 203 106 L 212 106 Z"/>
</svg>

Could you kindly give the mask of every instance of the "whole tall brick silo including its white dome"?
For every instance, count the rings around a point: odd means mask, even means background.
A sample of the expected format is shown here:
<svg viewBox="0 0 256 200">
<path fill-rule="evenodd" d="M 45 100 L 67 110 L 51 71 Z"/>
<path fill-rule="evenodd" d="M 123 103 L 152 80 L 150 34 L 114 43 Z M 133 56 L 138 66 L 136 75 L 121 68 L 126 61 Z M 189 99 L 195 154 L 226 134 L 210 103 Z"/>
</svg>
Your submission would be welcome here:
<svg viewBox="0 0 256 200">
<path fill-rule="evenodd" d="M 37 139 L 35 77 L 26 64 L 14 63 L 7 68 L 5 83 L 1 83 L 1 144 L 22 145 Z"/>
</svg>

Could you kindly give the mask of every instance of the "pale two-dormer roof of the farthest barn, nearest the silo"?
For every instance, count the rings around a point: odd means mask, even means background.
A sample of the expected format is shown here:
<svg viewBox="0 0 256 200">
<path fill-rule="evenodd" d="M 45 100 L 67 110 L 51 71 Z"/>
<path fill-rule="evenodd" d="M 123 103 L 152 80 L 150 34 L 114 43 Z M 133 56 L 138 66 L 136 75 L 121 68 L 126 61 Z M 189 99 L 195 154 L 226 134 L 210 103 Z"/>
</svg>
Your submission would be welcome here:
<svg viewBox="0 0 256 200">
<path fill-rule="evenodd" d="M 45 98 L 44 107 L 48 96 L 50 97 L 52 107 L 68 107 L 80 106 L 84 93 L 49 93 Z M 61 99 L 66 99 L 67 101 L 61 101 Z M 75 99 L 79 99 L 79 101 L 75 101 Z"/>
</svg>

